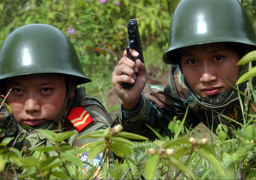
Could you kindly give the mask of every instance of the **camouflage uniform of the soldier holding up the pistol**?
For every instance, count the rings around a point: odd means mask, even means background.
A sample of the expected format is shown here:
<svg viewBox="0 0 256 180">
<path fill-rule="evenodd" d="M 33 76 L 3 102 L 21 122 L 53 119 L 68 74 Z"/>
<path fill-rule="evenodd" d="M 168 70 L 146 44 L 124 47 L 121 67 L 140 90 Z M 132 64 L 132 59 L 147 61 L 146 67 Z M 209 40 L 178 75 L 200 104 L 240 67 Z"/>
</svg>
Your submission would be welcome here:
<svg viewBox="0 0 256 180">
<path fill-rule="evenodd" d="M 244 71 L 246 68 L 244 68 Z M 243 72 L 241 72 L 243 73 Z M 255 79 L 253 84 L 256 84 Z M 178 65 L 172 65 L 168 84 L 165 87 L 148 84 L 141 94 L 140 105 L 138 109 L 127 112 L 122 110 L 120 106 L 118 119 L 124 126 L 124 131 L 130 131 L 144 135 L 152 140 L 156 139 L 154 132 L 148 129 L 145 123 L 152 126 L 161 135 L 170 137 L 173 135 L 168 129 L 168 124 L 173 120 L 174 116 L 182 120 L 189 106 L 188 115 L 185 121 L 187 127 L 195 128 L 200 122 L 204 123 L 208 128 L 215 132 L 216 127 L 222 123 L 228 123 L 232 126 L 232 121 L 225 121 L 218 116 L 214 110 L 207 110 L 195 100 L 191 91 L 184 84 L 184 77 L 180 73 Z M 241 121 L 241 108 L 239 100 L 228 105 L 218 111 L 221 114 L 236 120 Z M 213 116 L 212 116 L 213 114 Z M 221 120 L 219 120 L 220 118 Z"/>
</svg>

